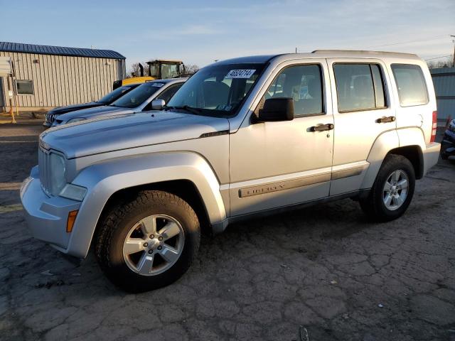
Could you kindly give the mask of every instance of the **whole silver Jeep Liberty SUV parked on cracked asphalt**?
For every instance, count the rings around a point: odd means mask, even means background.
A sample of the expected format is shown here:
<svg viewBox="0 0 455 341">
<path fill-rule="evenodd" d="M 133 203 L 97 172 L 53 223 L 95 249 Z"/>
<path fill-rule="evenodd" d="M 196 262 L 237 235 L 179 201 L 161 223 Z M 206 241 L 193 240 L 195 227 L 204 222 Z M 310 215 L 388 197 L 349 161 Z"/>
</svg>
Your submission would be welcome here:
<svg viewBox="0 0 455 341">
<path fill-rule="evenodd" d="M 118 286 L 151 290 L 185 273 L 201 230 L 346 197 L 400 217 L 437 163 L 436 110 L 416 55 L 225 60 L 160 111 L 45 131 L 21 200 L 36 238 L 81 259 L 92 246 Z"/>
</svg>

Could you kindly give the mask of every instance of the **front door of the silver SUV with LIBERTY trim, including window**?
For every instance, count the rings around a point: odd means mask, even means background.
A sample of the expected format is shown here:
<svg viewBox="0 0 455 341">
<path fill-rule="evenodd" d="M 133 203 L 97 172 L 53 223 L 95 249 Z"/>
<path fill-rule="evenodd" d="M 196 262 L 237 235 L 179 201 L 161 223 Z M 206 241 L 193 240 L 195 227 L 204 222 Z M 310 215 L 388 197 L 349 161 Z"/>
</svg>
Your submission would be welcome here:
<svg viewBox="0 0 455 341">
<path fill-rule="evenodd" d="M 247 117 L 230 134 L 231 217 L 328 196 L 333 155 L 329 84 L 323 59 L 289 61 L 272 72 L 260 103 L 291 97 L 294 119 L 253 123 Z M 319 125 L 332 126 L 314 131 Z"/>
</svg>

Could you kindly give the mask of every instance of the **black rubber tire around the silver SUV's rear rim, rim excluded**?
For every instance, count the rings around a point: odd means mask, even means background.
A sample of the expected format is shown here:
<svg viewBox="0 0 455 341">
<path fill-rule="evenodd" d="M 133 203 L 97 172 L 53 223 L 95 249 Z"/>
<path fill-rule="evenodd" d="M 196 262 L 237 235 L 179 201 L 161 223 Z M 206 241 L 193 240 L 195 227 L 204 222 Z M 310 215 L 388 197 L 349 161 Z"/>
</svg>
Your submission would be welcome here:
<svg viewBox="0 0 455 341">
<path fill-rule="evenodd" d="M 407 175 L 407 197 L 400 207 L 389 210 L 383 200 L 384 185 L 390 174 L 394 171 L 404 171 Z M 401 155 L 389 154 L 382 162 L 382 166 L 376 176 L 375 183 L 368 197 L 360 199 L 360 207 L 370 220 L 375 222 L 389 222 L 401 217 L 409 207 L 415 188 L 415 172 L 412 163 Z"/>
</svg>

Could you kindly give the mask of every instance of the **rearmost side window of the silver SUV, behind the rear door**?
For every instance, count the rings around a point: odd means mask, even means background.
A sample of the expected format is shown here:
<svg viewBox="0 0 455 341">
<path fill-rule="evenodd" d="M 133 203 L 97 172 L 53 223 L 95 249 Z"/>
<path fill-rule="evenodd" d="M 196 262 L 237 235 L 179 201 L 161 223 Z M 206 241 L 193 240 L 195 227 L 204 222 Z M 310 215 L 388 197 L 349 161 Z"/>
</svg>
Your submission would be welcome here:
<svg viewBox="0 0 455 341">
<path fill-rule="evenodd" d="M 427 85 L 418 65 L 392 64 L 393 77 L 397 83 L 398 97 L 402 107 L 428 103 Z"/>
</svg>

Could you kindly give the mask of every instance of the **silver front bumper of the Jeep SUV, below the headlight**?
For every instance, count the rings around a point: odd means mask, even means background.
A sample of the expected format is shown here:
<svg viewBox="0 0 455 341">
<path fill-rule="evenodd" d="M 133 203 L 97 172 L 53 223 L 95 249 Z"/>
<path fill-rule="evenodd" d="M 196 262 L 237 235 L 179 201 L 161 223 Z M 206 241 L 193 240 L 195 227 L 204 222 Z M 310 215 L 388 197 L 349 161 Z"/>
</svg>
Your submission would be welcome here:
<svg viewBox="0 0 455 341">
<path fill-rule="evenodd" d="M 38 166 L 32 168 L 31 175 L 22 183 L 21 202 L 33 237 L 65 254 L 75 255 L 68 247 L 71 234 L 66 232 L 66 224 L 68 213 L 79 210 L 81 202 L 48 197 L 41 189 Z"/>
</svg>

